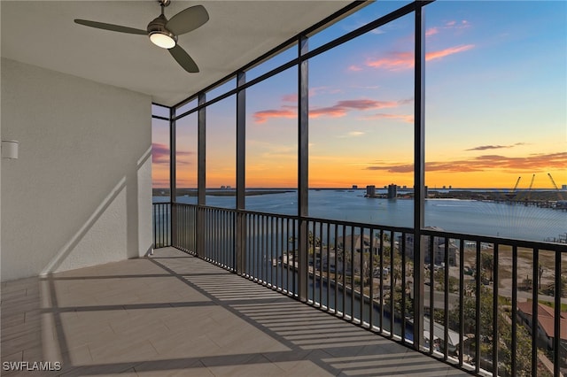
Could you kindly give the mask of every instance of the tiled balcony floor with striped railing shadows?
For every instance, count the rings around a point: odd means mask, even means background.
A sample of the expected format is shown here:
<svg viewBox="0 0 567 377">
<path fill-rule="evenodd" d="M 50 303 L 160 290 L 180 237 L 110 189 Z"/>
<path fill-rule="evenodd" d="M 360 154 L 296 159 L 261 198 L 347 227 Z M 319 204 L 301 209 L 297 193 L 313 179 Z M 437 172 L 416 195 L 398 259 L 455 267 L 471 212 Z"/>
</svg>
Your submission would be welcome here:
<svg viewBox="0 0 567 377">
<path fill-rule="evenodd" d="M 468 375 L 169 248 L 1 293 L 2 375 Z"/>
</svg>

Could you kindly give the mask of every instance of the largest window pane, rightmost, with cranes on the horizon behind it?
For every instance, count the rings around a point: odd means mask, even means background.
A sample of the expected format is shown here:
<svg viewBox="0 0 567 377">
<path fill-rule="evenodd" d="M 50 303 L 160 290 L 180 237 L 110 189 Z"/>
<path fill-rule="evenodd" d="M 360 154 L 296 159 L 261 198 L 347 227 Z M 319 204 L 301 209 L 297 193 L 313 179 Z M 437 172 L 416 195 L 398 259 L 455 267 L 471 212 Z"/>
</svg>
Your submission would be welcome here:
<svg viewBox="0 0 567 377">
<path fill-rule="evenodd" d="M 426 225 L 536 241 L 564 234 L 564 212 L 507 204 L 557 201 L 548 174 L 567 182 L 566 7 L 427 6 L 425 181 L 440 200 L 427 201 Z"/>
</svg>

